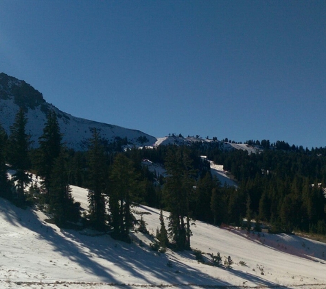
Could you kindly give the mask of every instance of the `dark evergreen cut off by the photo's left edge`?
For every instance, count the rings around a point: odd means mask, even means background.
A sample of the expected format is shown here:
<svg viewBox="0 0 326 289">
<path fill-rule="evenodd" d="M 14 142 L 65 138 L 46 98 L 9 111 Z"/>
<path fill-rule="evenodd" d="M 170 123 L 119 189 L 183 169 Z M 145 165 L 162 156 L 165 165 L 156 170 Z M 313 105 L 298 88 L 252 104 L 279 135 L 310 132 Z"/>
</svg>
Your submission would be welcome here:
<svg viewBox="0 0 326 289">
<path fill-rule="evenodd" d="M 8 180 L 7 165 L 6 165 L 6 145 L 8 136 L 0 124 L 0 197 L 10 199 L 10 182 Z"/>
</svg>

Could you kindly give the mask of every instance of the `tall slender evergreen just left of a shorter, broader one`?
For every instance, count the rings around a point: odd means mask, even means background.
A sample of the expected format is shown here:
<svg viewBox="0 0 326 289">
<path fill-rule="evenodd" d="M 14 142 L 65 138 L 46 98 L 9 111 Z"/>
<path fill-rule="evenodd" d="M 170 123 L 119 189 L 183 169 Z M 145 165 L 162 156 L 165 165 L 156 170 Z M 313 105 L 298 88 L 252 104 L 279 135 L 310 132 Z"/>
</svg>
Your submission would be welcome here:
<svg viewBox="0 0 326 289">
<path fill-rule="evenodd" d="M 106 212 L 104 192 L 106 188 L 105 175 L 105 155 L 100 143 L 100 134 L 97 129 L 93 129 L 91 144 L 88 151 L 89 165 L 89 216 L 91 225 L 100 231 L 106 227 Z"/>
</svg>

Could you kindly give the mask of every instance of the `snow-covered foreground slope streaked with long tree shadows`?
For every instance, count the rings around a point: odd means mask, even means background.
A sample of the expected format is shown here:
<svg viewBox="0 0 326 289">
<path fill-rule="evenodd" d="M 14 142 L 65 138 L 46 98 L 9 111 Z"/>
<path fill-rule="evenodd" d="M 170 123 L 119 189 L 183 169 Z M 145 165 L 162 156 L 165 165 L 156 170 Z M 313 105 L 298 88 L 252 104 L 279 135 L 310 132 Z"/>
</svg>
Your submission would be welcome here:
<svg viewBox="0 0 326 289">
<path fill-rule="evenodd" d="M 72 187 L 87 209 L 87 190 Z M 159 210 L 141 206 L 150 234 Z M 167 223 L 167 212 L 164 212 Z M 126 244 L 104 234 L 58 229 L 38 210 L 0 199 L 0 288 L 325 288 L 326 244 L 250 234 L 196 221 L 191 247 L 231 256 L 233 268 L 198 263 L 190 251 L 155 253 L 152 236 L 132 232 Z M 205 255 L 205 258 L 209 257 Z M 167 266 L 170 264 L 170 266 Z M 242 266 L 243 264 L 244 266 Z"/>
</svg>

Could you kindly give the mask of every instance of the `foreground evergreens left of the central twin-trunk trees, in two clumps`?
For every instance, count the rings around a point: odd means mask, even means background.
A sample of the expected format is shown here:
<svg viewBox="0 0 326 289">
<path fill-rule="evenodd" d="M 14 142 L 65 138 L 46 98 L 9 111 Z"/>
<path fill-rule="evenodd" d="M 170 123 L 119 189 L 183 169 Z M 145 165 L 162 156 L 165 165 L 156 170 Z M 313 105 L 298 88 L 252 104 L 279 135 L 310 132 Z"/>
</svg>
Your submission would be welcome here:
<svg viewBox="0 0 326 289">
<path fill-rule="evenodd" d="M 56 113 L 47 114 L 47 122 L 43 134 L 38 139 L 38 149 L 30 149 L 30 136 L 25 132 L 27 118 L 23 110 L 19 110 L 10 136 L 0 127 L 0 196 L 11 199 L 19 206 L 29 201 L 42 204 L 52 214 L 58 225 L 78 221 L 79 204 L 71 195 L 69 181 L 73 160 L 71 152 L 62 145 L 62 134 Z M 89 188 L 89 214 L 86 223 L 98 230 L 113 227 L 116 238 L 128 239 L 128 232 L 133 225 L 131 213 L 132 202 L 137 201 L 141 192 L 139 174 L 134 164 L 123 154 L 114 156 L 112 160 L 104 150 L 104 142 L 99 131 L 93 129 L 93 136 L 86 151 L 86 185 Z M 110 155 L 112 156 L 112 155 Z M 8 165 L 12 169 L 12 180 L 8 179 Z M 32 185 L 27 193 L 27 186 L 32 183 L 34 171 L 40 179 L 40 186 Z"/>
</svg>

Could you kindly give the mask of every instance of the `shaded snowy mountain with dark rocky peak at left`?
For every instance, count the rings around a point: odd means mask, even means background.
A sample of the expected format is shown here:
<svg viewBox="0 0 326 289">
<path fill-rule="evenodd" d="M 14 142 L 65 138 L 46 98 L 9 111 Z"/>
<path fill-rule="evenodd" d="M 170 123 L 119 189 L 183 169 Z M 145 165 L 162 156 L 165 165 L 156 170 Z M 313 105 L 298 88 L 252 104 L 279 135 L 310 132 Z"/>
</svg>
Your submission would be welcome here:
<svg viewBox="0 0 326 289">
<path fill-rule="evenodd" d="M 154 145 L 156 138 L 136 129 L 126 129 L 117 125 L 108 125 L 78 118 L 62 112 L 54 105 L 47 103 L 43 95 L 23 80 L 0 73 L 0 123 L 5 131 L 10 131 L 19 108 L 26 113 L 27 134 L 31 135 L 34 146 L 38 145 L 38 137 L 43 134 L 47 112 L 54 110 L 58 116 L 63 141 L 68 147 L 81 150 L 91 138 L 91 128 L 100 129 L 102 138 L 109 142 L 117 138 L 127 138 L 133 145 Z"/>
</svg>

